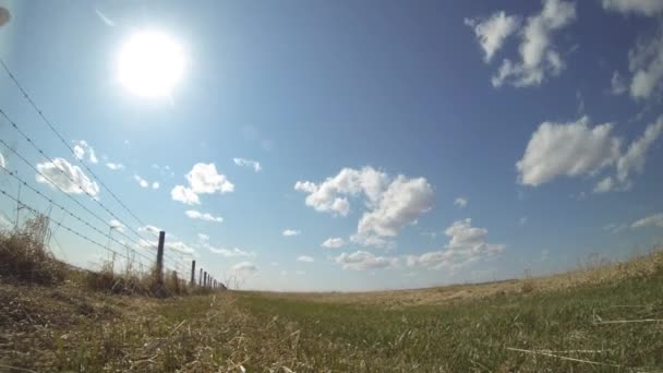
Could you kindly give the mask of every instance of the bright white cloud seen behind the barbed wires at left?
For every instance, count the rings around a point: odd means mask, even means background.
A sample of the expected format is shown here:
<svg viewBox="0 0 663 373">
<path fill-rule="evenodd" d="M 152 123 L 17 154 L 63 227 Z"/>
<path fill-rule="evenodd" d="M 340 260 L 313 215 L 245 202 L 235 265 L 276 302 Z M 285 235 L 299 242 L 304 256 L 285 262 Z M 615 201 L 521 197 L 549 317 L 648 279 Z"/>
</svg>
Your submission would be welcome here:
<svg viewBox="0 0 663 373">
<path fill-rule="evenodd" d="M 87 193 L 93 197 L 99 194 L 99 185 L 89 180 L 79 166 L 72 166 L 65 159 L 55 158 L 52 163 L 37 164 L 37 170 L 44 175 L 36 175 L 39 183 L 51 185 L 69 194 Z"/>
</svg>

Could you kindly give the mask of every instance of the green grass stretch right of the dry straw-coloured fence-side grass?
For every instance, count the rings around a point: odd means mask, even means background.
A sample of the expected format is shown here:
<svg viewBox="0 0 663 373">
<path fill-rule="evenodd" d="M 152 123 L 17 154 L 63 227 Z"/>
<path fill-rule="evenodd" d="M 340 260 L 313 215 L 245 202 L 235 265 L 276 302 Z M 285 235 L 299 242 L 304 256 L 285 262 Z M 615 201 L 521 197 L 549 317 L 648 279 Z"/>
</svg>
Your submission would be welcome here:
<svg viewBox="0 0 663 373">
<path fill-rule="evenodd" d="M 618 371 L 508 350 L 601 350 L 557 356 L 643 371 L 663 369 L 663 276 L 570 290 L 385 309 L 242 294 L 263 323 L 300 330 L 301 361 L 334 371 Z M 617 306 L 628 305 L 628 306 Z M 601 317 L 601 318 L 599 318 Z"/>
</svg>

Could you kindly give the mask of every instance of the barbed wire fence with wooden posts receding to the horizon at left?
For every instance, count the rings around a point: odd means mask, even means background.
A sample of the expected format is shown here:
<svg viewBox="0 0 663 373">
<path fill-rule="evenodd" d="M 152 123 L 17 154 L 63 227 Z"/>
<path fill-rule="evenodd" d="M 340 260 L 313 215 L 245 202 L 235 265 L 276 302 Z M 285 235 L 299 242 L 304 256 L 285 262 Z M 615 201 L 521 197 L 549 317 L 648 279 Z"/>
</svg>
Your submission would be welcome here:
<svg viewBox="0 0 663 373">
<path fill-rule="evenodd" d="M 88 178 L 86 178 L 88 180 L 81 180 L 82 178 L 73 175 L 70 169 L 71 165 L 63 165 L 63 161 L 67 163 L 64 159 L 55 158 L 47 154 L 44 148 L 36 143 L 35 139 L 26 132 L 27 127 L 23 123 L 17 123 L 10 117 L 5 108 L 0 107 L 0 123 L 4 122 L 5 124 L 9 124 L 8 128 L 19 135 L 17 137 L 20 141 L 20 143 L 16 144 L 9 144 L 5 140 L 0 139 L 0 155 L 12 154 L 15 156 L 16 159 L 21 160 L 28 169 L 35 172 L 34 176 L 38 183 L 48 184 L 51 186 L 48 190 L 53 192 L 46 193 L 43 190 L 39 190 L 28 182 L 25 177 L 19 175 L 17 169 L 10 169 L 3 160 L 4 158 L 2 158 L 3 161 L 0 163 L 0 173 L 7 175 L 9 177 L 8 180 L 15 182 L 17 185 L 15 194 L 8 189 L 0 189 L 0 196 L 11 201 L 16 206 L 15 217 L 13 218 L 14 228 L 17 228 L 21 222 L 20 214 L 22 210 L 26 210 L 35 216 L 46 216 L 49 225 L 53 227 L 50 240 L 47 243 L 50 244 L 52 241 L 61 252 L 63 256 L 62 261 L 69 265 L 73 264 L 64 254 L 65 251 L 56 234 L 60 229 L 76 237 L 81 242 L 103 250 L 101 252 L 106 252 L 108 255 L 112 256 L 113 261 L 117 257 L 121 258 L 124 261 L 125 267 L 133 266 L 134 269 L 137 267 L 137 270 L 145 275 L 156 275 L 157 280 L 160 284 L 164 282 L 164 272 L 167 270 L 168 274 L 174 276 L 176 279 L 189 282 L 190 286 L 212 289 L 225 288 L 220 281 L 216 280 L 203 268 L 197 268 L 200 275 L 198 278 L 196 278 L 196 263 L 191 253 L 179 252 L 174 245 L 169 246 L 165 242 L 164 231 L 156 231 L 154 227 L 145 224 L 143 219 L 129 208 L 128 205 L 120 200 L 117 193 L 114 193 L 99 176 L 92 170 L 84 157 L 76 154 L 74 147 L 65 140 L 67 136 L 64 136 L 56 124 L 45 115 L 44 110 L 41 110 L 1 58 L 0 64 L 16 89 L 28 103 L 29 107 L 37 112 L 40 121 L 56 135 L 60 143 L 62 143 L 69 153 L 71 153 L 73 159 L 76 159 L 88 175 Z M 29 147 L 43 158 L 44 164 L 41 165 L 48 165 L 48 168 L 57 173 L 52 175 L 51 172 L 45 172 L 44 169 L 40 169 L 39 165 L 35 166 L 31 163 L 24 151 L 17 151 L 19 144 L 28 144 Z M 70 188 L 63 188 L 62 182 L 67 183 Z M 96 186 L 94 190 L 91 190 L 89 184 L 100 185 L 101 189 L 121 207 L 123 213 L 131 216 L 133 221 L 138 224 L 138 227 L 134 228 L 126 219 L 122 219 L 119 212 L 113 210 L 107 203 L 104 203 L 98 197 L 99 188 Z M 26 195 L 22 195 L 22 192 L 24 191 L 29 192 L 27 197 Z M 57 195 L 57 197 L 55 195 Z M 83 198 L 76 196 L 83 196 Z M 65 206 L 63 203 L 58 202 L 58 197 L 67 197 L 67 201 L 72 202 L 71 206 Z M 44 210 L 40 210 L 37 207 L 36 202 L 39 200 L 41 201 L 41 205 L 47 206 L 45 210 L 47 209 L 48 214 L 45 214 Z M 87 206 L 84 202 L 88 202 L 87 205 L 92 204 L 96 209 L 103 213 L 94 212 L 93 208 Z M 60 220 L 57 220 L 51 216 L 53 208 L 61 213 Z M 11 222 L 11 213 L 1 213 L 2 218 Z M 101 217 L 101 215 L 106 215 L 107 218 Z M 71 222 L 65 224 L 64 220 Z M 51 252 L 53 251 L 52 248 L 49 249 Z M 191 268 L 190 273 L 189 268 Z"/>
</svg>

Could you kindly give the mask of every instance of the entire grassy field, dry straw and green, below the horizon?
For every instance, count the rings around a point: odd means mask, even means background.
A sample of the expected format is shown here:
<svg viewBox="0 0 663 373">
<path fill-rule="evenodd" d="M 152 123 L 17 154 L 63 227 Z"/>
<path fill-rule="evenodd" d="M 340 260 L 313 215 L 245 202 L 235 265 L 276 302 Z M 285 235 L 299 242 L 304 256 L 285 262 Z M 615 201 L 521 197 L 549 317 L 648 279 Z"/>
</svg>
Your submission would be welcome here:
<svg viewBox="0 0 663 373">
<path fill-rule="evenodd" d="M 357 294 L 154 299 L 89 291 L 74 280 L 1 282 L 0 365 L 38 372 L 660 372 L 662 263 L 658 252 L 557 277 Z"/>
</svg>

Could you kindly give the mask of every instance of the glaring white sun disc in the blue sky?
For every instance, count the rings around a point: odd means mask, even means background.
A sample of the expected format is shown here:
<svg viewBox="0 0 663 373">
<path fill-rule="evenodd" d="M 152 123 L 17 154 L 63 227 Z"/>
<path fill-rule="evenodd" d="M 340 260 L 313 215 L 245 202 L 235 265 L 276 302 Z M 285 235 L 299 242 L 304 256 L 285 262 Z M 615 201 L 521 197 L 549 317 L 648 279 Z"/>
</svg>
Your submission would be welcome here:
<svg viewBox="0 0 663 373">
<path fill-rule="evenodd" d="M 141 97 L 170 96 L 184 73 L 185 56 L 169 35 L 141 32 L 129 37 L 118 58 L 124 88 Z"/>
</svg>

